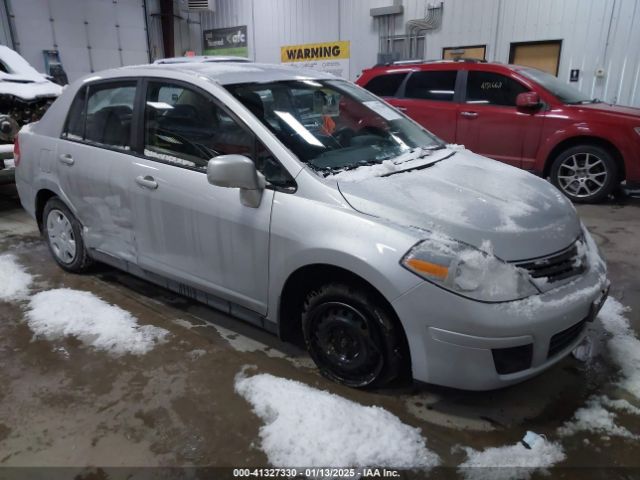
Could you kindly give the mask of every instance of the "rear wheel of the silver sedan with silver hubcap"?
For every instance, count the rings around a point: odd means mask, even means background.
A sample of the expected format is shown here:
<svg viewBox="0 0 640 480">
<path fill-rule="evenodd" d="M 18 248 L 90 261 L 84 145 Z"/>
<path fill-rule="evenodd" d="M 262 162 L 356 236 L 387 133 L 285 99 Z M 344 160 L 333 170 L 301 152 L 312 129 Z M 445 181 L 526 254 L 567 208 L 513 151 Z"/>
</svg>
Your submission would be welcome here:
<svg viewBox="0 0 640 480">
<path fill-rule="evenodd" d="M 82 225 L 57 197 L 49 199 L 42 214 L 42 233 L 60 267 L 82 273 L 92 264 L 82 238 Z"/>
</svg>

